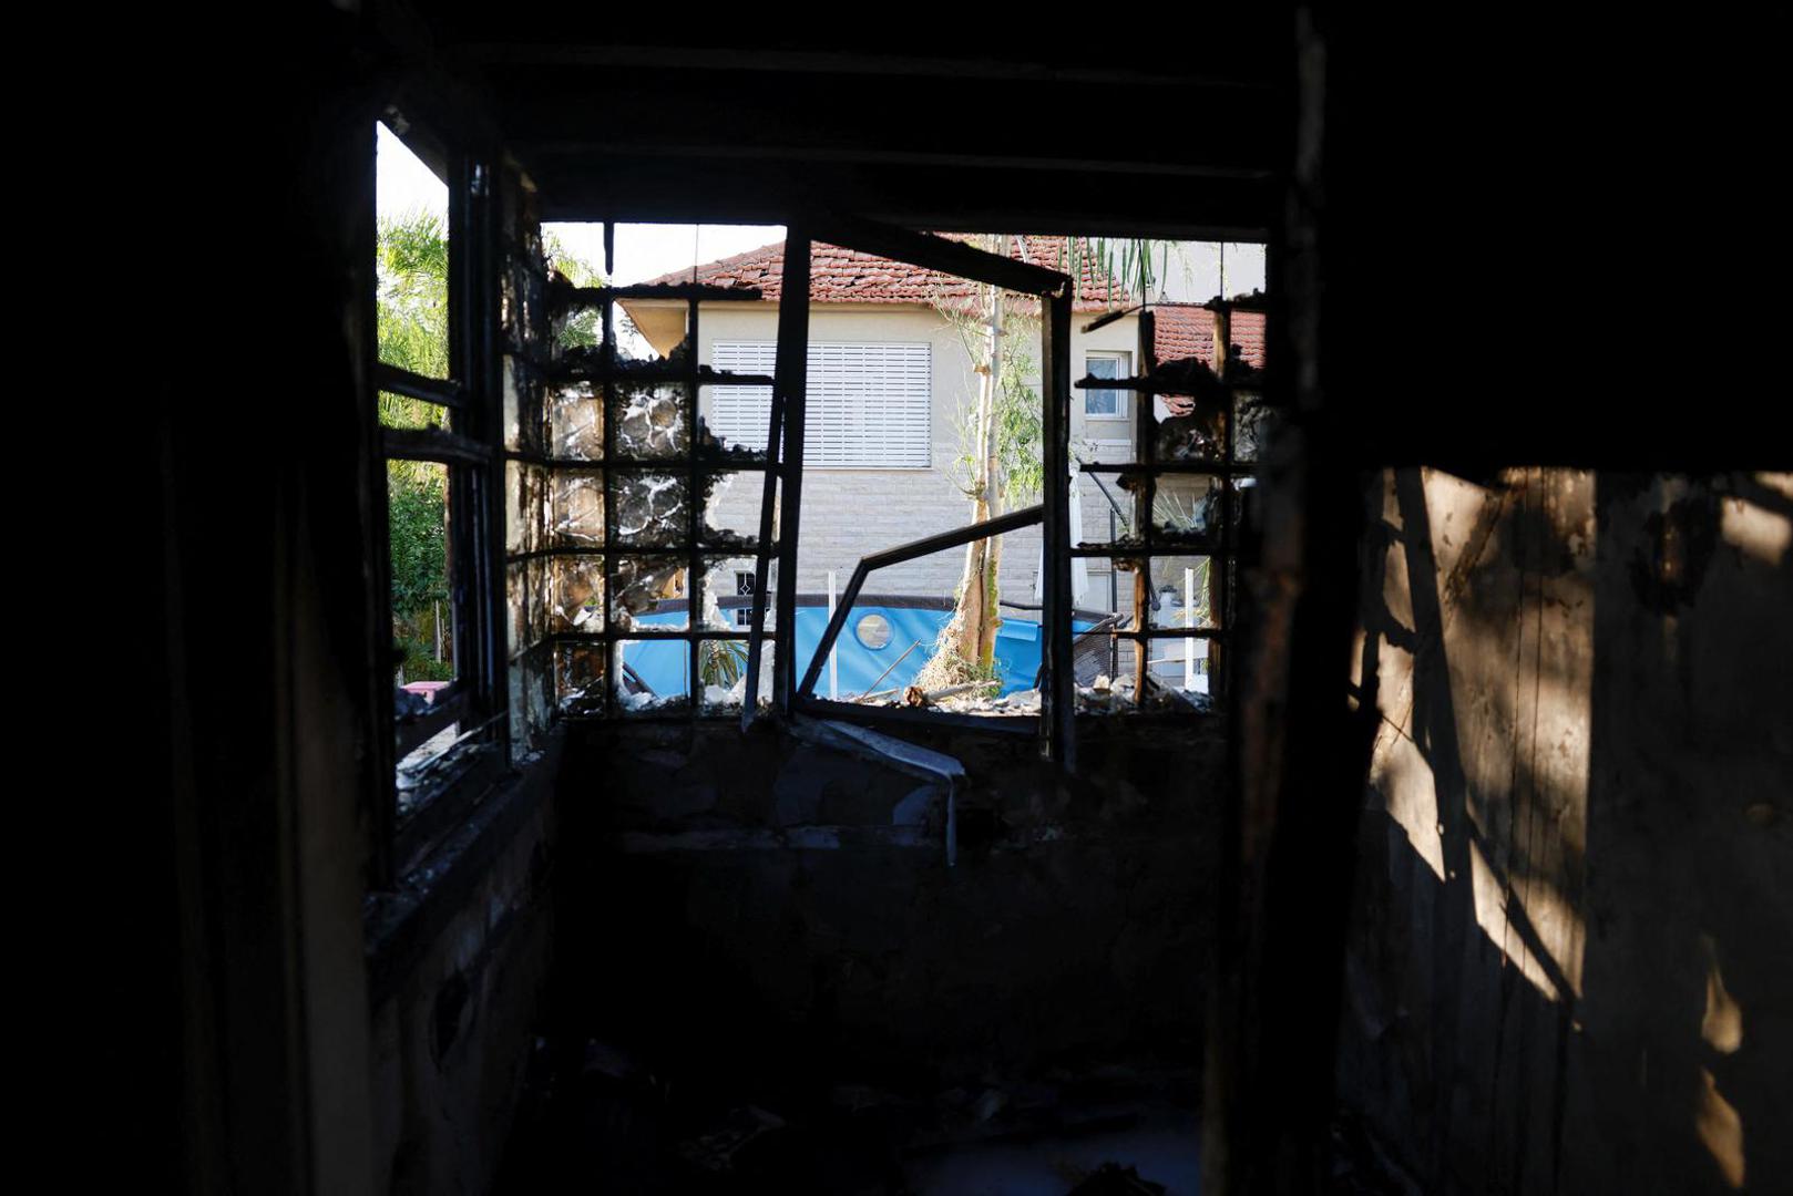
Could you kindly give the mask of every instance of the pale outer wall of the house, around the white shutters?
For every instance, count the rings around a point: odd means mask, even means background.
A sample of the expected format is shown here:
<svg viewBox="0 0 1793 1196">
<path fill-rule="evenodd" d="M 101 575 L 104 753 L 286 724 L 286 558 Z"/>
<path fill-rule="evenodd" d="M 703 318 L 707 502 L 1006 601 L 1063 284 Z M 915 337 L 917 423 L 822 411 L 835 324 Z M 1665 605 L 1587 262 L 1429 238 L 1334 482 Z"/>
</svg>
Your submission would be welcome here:
<svg viewBox="0 0 1793 1196">
<path fill-rule="evenodd" d="M 1126 373 L 1139 366 L 1139 326 L 1133 317 L 1119 319 L 1094 334 L 1081 332 L 1094 316 L 1072 319 L 1072 375 L 1083 377 L 1088 353 L 1124 353 Z M 776 303 L 706 303 L 699 316 L 699 360 L 714 364 L 715 344 L 773 342 L 778 335 Z M 1038 359 L 1036 334 L 1029 337 Z M 816 468 L 803 473 L 803 525 L 798 547 L 798 590 L 827 590 L 834 570 L 845 586 L 859 558 L 970 520 L 970 500 L 954 484 L 950 468 L 963 452 L 959 443 L 961 409 L 975 405 L 977 375 L 963 341 L 932 308 L 923 305 L 818 303 L 810 308 L 810 341 L 816 342 L 907 342 L 927 344 L 932 359 L 932 409 L 929 468 Z M 1038 369 L 1038 360 L 1035 362 Z M 1038 382 L 1038 378 L 1035 378 Z M 1128 402 L 1135 402 L 1128 396 Z M 710 387 L 701 398 L 710 418 Z M 1131 454 L 1131 423 L 1121 420 L 1085 420 L 1081 393 L 1072 393 L 1072 450 L 1085 459 L 1124 461 Z M 1104 479 L 1106 481 L 1106 479 Z M 1110 488 L 1113 490 L 1112 482 Z M 1083 533 L 1088 540 L 1106 540 L 1108 504 L 1085 479 Z M 1113 490 L 1117 500 L 1124 495 Z M 758 475 L 742 473 L 712 506 L 712 524 L 749 527 L 760 502 Z M 1033 602 L 1040 565 L 1038 529 L 1004 536 L 1000 586 L 1011 601 Z M 742 565 L 746 568 L 748 565 Z M 952 597 L 963 567 L 963 549 L 934 554 L 922 561 L 873 574 L 868 592 Z M 1108 570 L 1090 561 L 1090 585 L 1079 606 L 1108 610 Z M 1121 604 L 1130 606 L 1131 577 L 1121 576 Z M 1018 611 L 1011 611 L 1017 613 Z"/>
</svg>

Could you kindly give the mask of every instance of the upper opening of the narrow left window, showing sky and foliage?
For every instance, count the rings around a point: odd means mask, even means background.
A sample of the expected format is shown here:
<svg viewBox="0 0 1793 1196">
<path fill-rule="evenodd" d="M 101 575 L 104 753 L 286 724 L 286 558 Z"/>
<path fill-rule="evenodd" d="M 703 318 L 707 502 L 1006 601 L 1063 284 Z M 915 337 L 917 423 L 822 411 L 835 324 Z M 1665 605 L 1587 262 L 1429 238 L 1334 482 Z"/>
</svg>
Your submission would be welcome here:
<svg viewBox="0 0 1793 1196">
<path fill-rule="evenodd" d="M 448 377 L 448 185 L 375 126 L 375 326 L 380 360 Z"/>
</svg>

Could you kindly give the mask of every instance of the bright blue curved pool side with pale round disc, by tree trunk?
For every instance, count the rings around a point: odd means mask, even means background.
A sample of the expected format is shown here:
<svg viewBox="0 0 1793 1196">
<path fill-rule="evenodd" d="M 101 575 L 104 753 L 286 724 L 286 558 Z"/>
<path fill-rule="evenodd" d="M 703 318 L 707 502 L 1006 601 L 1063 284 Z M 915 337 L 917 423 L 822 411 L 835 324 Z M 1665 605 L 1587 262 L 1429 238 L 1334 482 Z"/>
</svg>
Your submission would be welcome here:
<svg viewBox="0 0 1793 1196">
<path fill-rule="evenodd" d="M 925 599 L 922 599 L 925 601 Z M 728 617 L 733 610 L 724 608 Z M 834 646 L 836 692 L 864 694 L 873 685 L 879 690 L 902 689 L 914 681 L 914 676 L 932 656 L 934 640 L 947 626 L 952 611 L 934 604 L 909 602 L 859 602 L 841 628 L 841 638 Z M 683 604 L 667 602 L 663 610 L 649 615 L 637 615 L 637 626 L 683 624 Z M 801 667 L 816 656 L 816 646 L 828 626 L 827 606 L 798 606 L 796 610 L 796 656 Z M 1076 629 L 1085 631 L 1090 624 L 1076 620 Z M 742 629 L 744 624 L 742 624 Z M 916 646 L 904 656 L 904 651 Z M 997 671 L 1002 680 L 1002 694 L 1033 689 L 1040 672 L 1040 624 L 1004 615 L 997 628 Z M 891 667 L 898 656 L 902 663 Z M 690 672 L 690 653 L 683 642 L 676 640 L 635 640 L 622 647 L 622 662 L 633 669 L 654 694 L 687 694 L 687 674 Z M 888 676 L 882 676 L 889 669 Z M 823 665 L 816 678 L 816 696 L 828 696 L 828 669 Z"/>
</svg>

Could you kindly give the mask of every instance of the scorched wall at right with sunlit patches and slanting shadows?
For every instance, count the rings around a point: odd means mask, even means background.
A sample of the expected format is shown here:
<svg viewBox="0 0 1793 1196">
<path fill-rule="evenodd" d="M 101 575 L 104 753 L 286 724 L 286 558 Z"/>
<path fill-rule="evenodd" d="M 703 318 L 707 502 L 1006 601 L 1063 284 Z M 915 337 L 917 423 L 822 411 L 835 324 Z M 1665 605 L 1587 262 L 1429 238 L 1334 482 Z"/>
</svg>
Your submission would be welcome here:
<svg viewBox="0 0 1793 1196">
<path fill-rule="evenodd" d="M 1793 1189 L 1793 477 L 1366 500 L 1345 1105 L 1425 1191 Z"/>
</svg>

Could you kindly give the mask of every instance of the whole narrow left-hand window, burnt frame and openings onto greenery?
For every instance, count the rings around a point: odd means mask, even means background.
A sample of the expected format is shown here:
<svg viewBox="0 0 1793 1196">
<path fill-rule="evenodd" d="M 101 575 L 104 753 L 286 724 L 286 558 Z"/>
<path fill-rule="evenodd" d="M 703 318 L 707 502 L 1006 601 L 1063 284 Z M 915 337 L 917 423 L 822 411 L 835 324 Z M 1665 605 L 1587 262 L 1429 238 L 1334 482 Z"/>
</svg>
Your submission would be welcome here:
<svg viewBox="0 0 1793 1196">
<path fill-rule="evenodd" d="M 389 880 L 497 775 L 504 719 L 495 574 L 481 550 L 497 518 L 497 420 L 472 334 L 486 276 L 472 230 L 486 174 L 396 115 L 377 126 L 375 143 L 369 369 L 393 715 L 377 871 Z"/>
</svg>

